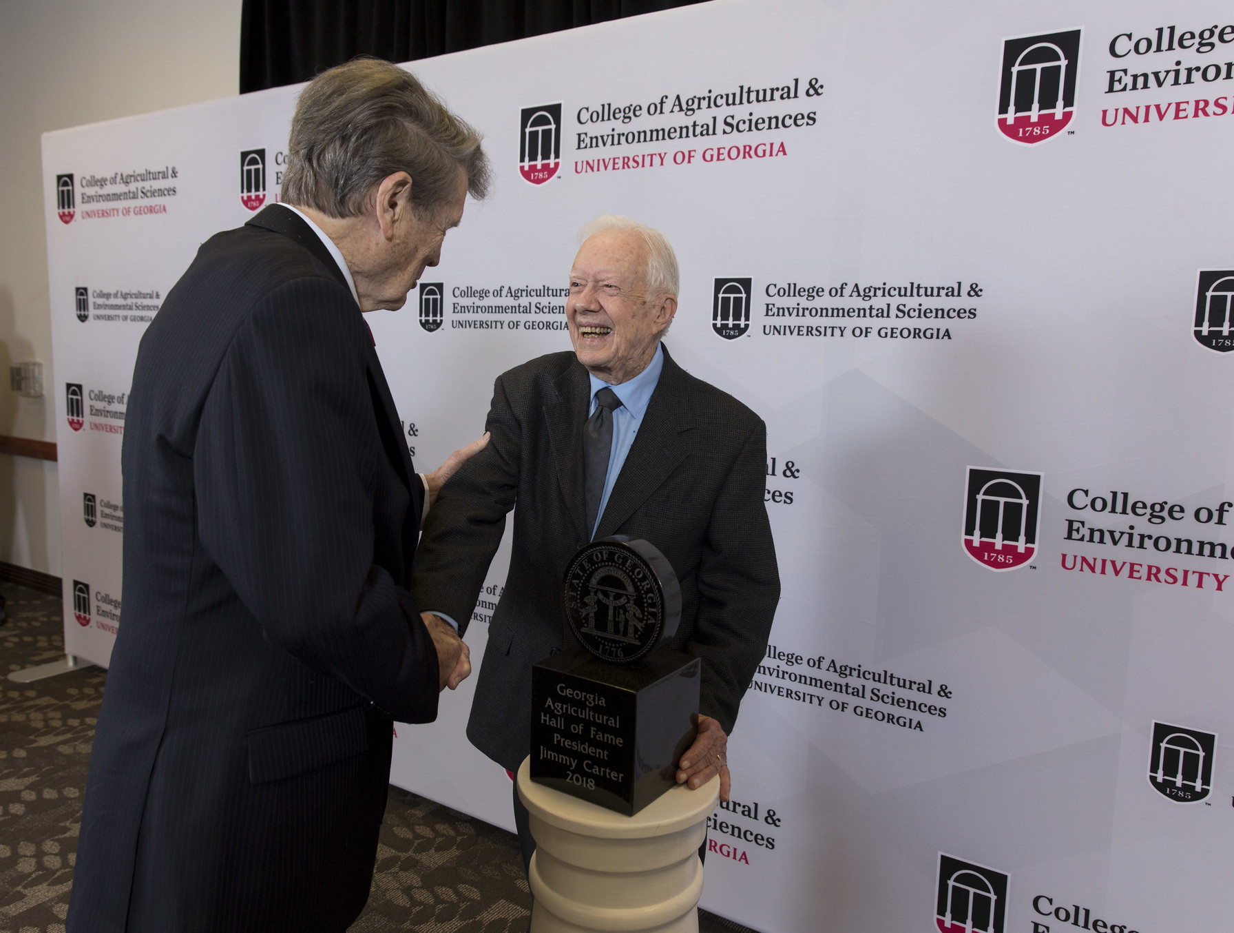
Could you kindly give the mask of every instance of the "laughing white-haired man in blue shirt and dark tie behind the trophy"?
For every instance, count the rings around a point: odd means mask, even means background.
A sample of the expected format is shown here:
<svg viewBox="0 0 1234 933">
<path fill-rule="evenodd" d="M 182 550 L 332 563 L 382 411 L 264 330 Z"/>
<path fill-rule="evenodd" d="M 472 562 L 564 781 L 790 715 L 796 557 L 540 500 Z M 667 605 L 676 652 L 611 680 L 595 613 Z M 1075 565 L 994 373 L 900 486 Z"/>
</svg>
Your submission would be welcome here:
<svg viewBox="0 0 1234 933">
<path fill-rule="evenodd" d="M 670 645 L 702 658 L 703 715 L 676 778 L 697 787 L 718 774 L 727 801 L 728 733 L 780 599 L 764 505 L 766 428 L 661 343 L 679 290 L 664 234 L 606 215 L 581 238 L 565 305 L 574 352 L 497 378 L 491 441 L 424 525 L 416 601 L 465 626 L 515 508 L 510 575 L 468 723 L 471 743 L 515 771 L 531 750 L 532 665 L 573 638 L 560 602 L 570 558 L 612 534 L 650 542 L 681 581 Z M 515 817 L 529 864 L 517 791 Z"/>
</svg>

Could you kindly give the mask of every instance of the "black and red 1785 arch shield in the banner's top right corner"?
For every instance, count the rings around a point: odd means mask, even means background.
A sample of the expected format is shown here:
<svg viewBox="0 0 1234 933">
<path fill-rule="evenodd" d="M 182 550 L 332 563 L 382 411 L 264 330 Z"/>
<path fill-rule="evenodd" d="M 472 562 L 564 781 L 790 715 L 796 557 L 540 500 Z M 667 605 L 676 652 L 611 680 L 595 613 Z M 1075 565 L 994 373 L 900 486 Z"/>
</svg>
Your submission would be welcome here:
<svg viewBox="0 0 1234 933">
<path fill-rule="evenodd" d="M 1053 139 L 1071 122 L 1080 69 L 1080 30 L 1003 41 L 998 128 L 1012 142 Z"/>
</svg>

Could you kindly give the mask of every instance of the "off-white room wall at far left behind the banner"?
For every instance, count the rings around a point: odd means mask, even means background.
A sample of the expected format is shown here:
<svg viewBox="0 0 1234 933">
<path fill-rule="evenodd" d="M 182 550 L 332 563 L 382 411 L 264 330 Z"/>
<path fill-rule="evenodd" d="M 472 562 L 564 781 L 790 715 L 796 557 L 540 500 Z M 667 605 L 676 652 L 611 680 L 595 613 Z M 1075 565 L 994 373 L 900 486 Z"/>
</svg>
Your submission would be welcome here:
<svg viewBox="0 0 1234 933">
<path fill-rule="evenodd" d="M 0 434 L 56 439 L 39 136 L 232 96 L 241 0 L 0 0 Z M 38 359 L 48 395 L 9 391 Z M 0 454 L 0 560 L 59 575 L 56 464 Z"/>
</svg>

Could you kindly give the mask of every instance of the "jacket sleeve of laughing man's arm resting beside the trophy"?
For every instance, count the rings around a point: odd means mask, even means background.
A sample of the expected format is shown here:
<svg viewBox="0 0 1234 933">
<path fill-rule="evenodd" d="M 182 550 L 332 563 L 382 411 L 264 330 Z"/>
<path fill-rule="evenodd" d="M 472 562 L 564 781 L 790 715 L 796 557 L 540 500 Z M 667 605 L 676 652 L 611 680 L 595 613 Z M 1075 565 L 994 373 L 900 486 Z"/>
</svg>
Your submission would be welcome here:
<svg viewBox="0 0 1234 933">
<path fill-rule="evenodd" d="M 712 508 L 698 564 L 698 622 L 685 645 L 703 659 L 701 712 L 729 733 L 766 652 L 780 600 L 765 485 L 766 426 L 759 421 Z"/>
</svg>

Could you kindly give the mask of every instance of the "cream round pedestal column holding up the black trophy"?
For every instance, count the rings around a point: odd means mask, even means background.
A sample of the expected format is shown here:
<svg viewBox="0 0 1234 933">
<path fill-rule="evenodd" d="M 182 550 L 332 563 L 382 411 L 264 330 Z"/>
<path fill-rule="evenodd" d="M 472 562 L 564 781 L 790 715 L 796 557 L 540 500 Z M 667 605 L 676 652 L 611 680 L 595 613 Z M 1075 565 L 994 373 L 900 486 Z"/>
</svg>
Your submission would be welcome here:
<svg viewBox="0 0 1234 933">
<path fill-rule="evenodd" d="M 532 933 L 697 933 L 698 847 L 719 800 L 719 778 L 680 785 L 632 817 L 531 780 L 518 796 L 531 812 Z"/>
</svg>

